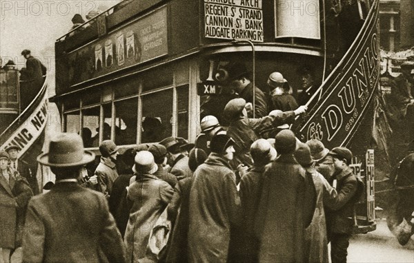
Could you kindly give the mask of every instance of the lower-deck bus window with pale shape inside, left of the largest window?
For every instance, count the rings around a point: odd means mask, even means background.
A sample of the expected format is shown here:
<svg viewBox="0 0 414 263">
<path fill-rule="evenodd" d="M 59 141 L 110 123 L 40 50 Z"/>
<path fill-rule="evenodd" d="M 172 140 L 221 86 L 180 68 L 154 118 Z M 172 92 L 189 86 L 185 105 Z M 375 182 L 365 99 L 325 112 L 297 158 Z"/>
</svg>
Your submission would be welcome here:
<svg viewBox="0 0 414 263">
<path fill-rule="evenodd" d="M 115 102 L 115 144 L 137 143 L 138 98 Z"/>
</svg>

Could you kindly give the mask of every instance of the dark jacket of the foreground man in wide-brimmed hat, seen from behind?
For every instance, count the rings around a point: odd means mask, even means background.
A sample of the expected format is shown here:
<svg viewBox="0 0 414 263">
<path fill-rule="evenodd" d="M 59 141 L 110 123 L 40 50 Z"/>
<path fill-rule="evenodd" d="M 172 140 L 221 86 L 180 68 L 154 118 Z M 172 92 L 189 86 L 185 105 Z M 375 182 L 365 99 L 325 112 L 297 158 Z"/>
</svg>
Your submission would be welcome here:
<svg viewBox="0 0 414 263">
<path fill-rule="evenodd" d="M 57 182 L 28 205 L 23 262 L 125 262 L 106 198 L 77 182 Z"/>
</svg>

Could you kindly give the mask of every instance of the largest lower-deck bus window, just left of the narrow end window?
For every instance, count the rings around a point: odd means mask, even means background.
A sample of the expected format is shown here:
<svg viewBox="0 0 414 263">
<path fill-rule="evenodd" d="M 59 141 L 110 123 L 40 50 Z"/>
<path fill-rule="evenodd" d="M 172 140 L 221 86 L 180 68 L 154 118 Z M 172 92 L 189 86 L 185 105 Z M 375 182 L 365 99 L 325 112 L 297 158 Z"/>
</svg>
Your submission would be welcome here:
<svg viewBox="0 0 414 263">
<path fill-rule="evenodd" d="M 172 89 L 142 96 L 141 143 L 172 136 Z"/>
</svg>

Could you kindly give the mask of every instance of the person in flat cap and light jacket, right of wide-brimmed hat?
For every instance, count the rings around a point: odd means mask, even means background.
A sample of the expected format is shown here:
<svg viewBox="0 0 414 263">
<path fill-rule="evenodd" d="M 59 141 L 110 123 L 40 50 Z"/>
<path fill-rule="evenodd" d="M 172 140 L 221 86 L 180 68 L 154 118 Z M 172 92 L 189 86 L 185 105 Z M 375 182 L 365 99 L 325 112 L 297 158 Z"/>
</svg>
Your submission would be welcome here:
<svg viewBox="0 0 414 263">
<path fill-rule="evenodd" d="M 112 185 L 115 179 L 118 178 L 118 172 L 115 162 L 119 155 L 118 147 L 112 140 L 103 140 L 99 145 L 101 152 L 101 162 L 95 170 L 95 175 L 98 176 L 99 189 L 106 198 L 109 198 L 112 192 Z"/>
</svg>

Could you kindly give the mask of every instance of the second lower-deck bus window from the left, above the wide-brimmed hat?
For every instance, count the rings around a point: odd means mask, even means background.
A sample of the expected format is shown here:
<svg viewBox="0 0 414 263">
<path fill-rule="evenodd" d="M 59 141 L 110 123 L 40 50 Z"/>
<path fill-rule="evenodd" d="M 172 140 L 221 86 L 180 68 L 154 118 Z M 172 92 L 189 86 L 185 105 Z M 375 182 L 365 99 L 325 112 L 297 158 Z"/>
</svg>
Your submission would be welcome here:
<svg viewBox="0 0 414 263">
<path fill-rule="evenodd" d="M 82 109 L 82 131 L 83 129 L 90 130 L 90 141 L 84 138 L 83 144 L 85 147 L 99 146 L 99 107 L 91 107 L 89 109 Z M 83 133 L 83 132 L 82 132 Z M 82 134 L 82 137 L 84 134 Z"/>
</svg>

